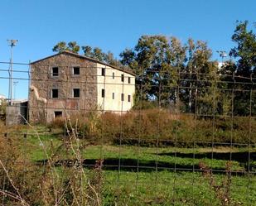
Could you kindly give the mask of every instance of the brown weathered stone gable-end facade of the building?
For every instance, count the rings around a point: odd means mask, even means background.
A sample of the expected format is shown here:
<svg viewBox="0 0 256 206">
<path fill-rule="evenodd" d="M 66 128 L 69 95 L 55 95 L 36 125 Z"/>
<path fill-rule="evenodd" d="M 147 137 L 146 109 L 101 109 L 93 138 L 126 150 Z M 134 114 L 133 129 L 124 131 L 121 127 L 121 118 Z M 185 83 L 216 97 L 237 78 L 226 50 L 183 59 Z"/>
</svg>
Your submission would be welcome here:
<svg viewBox="0 0 256 206">
<path fill-rule="evenodd" d="M 53 67 L 58 67 L 58 76 L 52 76 Z M 80 75 L 72 74 L 74 67 L 80 67 Z M 95 68 L 96 63 L 69 52 L 31 63 L 30 122 L 50 122 L 56 111 L 66 116 L 92 109 L 97 104 Z M 73 98 L 74 88 L 80 89 L 80 98 Z M 58 89 L 58 98 L 51 97 L 52 89 Z"/>
</svg>

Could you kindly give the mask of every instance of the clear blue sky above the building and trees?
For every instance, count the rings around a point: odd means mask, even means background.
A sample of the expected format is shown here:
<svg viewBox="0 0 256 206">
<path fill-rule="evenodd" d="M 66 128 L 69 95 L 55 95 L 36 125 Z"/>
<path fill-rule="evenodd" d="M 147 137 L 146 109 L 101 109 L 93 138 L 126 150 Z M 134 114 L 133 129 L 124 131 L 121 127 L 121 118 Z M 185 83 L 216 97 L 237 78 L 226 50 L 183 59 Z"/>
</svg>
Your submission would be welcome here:
<svg viewBox="0 0 256 206">
<path fill-rule="evenodd" d="M 59 41 L 99 46 L 115 57 L 142 35 L 189 37 L 216 50 L 234 47 L 236 21 L 256 22 L 255 0 L 1 0 L 0 62 L 10 60 L 7 39 L 18 40 L 13 61 L 28 63 L 53 55 Z M 8 65 L 0 63 L 0 94 L 8 95 Z M 13 69 L 27 71 L 27 65 Z M 27 73 L 13 74 L 15 98 L 27 98 Z"/>
</svg>

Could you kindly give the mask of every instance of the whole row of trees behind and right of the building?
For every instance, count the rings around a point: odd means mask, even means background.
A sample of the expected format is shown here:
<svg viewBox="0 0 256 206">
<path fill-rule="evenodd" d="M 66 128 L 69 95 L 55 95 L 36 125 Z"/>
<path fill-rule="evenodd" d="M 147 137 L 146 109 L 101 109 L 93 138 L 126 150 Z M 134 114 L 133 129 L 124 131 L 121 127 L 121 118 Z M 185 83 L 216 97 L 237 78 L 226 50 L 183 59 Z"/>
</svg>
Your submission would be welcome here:
<svg viewBox="0 0 256 206">
<path fill-rule="evenodd" d="M 234 76 L 252 77 L 256 73 L 256 34 L 249 30 L 249 22 L 237 22 L 231 36 L 235 46 L 229 60 L 221 68 L 212 60 L 212 50 L 205 41 L 188 39 L 185 43 L 175 36 L 141 36 L 133 48 L 120 53 L 120 60 L 110 51 L 99 47 L 79 46 L 75 41 L 60 41 L 53 51 L 70 50 L 103 61 L 109 65 L 128 67 L 136 74 L 136 98 L 153 102 L 160 107 L 179 104 L 186 113 L 246 114 L 249 94 L 225 93 L 232 91 Z M 233 58 L 233 59 L 232 59 Z M 250 81 L 249 78 L 246 80 Z M 221 84 L 220 84 L 221 83 Z M 239 89 L 250 89 L 250 84 L 239 84 Z M 231 105 L 234 101 L 235 105 Z M 177 107 L 175 107 L 177 108 Z M 247 109 L 248 110 L 248 109 Z"/>
</svg>

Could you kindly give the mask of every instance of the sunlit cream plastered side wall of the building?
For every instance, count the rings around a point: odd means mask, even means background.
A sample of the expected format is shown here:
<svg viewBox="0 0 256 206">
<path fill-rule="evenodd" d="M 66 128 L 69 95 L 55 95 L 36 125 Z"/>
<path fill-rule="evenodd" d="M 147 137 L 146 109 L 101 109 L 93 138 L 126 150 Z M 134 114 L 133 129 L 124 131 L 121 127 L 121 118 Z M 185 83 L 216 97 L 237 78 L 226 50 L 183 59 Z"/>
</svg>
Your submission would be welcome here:
<svg viewBox="0 0 256 206">
<path fill-rule="evenodd" d="M 102 75 L 102 68 L 105 68 L 105 76 Z M 114 79 L 113 79 L 114 73 Z M 121 75 L 124 75 L 124 81 L 121 81 Z M 128 83 L 130 78 L 130 83 Z M 98 105 L 106 112 L 126 112 L 133 107 L 133 95 L 135 93 L 135 76 L 125 73 L 118 69 L 97 63 L 97 89 Z M 105 91 L 105 97 L 102 98 L 102 89 Z M 114 93 L 114 99 L 113 99 Z M 124 100 L 121 100 L 121 94 L 124 94 Z M 128 102 L 128 95 L 131 101 Z"/>
</svg>

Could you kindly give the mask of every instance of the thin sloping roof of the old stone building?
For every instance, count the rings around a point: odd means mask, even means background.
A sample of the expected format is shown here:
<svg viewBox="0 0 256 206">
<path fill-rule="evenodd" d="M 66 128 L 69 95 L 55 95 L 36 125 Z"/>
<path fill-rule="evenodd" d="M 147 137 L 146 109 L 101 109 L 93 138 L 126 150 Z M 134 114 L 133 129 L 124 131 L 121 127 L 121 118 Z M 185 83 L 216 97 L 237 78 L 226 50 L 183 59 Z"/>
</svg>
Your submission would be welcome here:
<svg viewBox="0 0 256 206">
<path fill-rule="evenodd" d="M 104 63 L 103 61 L 95 60 L 95 59 L 90 58 L 90 57 L 85 56 L 85 55 L 79 55 L 79 54 L 76 54 L 76 53 L 71 52 L 71 51 L 69 51 L 69 50 L 64 50 L 64 51 L 62 51 L 62 52 L 60 52 L 60 53 L 58 53 L 58 54 L 56 54 L 56 55 L 73 55 L 73 56 L 75 56 L 75 57 L 77 57 L 77 58 L 84 59 L 84 60 L 89 60 L 89 61 L 92 61 L 92 62 L 94 62 L 94 63 L 99 63 L 99 64 L 101 64 L 101 65 L 106 65 L 106 66 L 112 67 L 112 68 L 114 68 L 114 69 L 118 69 L 118 70 L 120 70 L 120 71 L 123 71 L 123 72 L 128 73 L 128 74 L 132 74 L 133 76 L 135 76 L 135 74 L 134 74 L 134 72 L 133 72 L 132 69 L 126 69 L 126 68 L 124 69 L 124 68 L 120 68 L 120 67 L 118 67 L 118 66 L 109 65 L 109 64 L 107 64 L 107 63 Z M 45 57 L 45 58 L 43 58 L 43 59 L 41 59 L 41 60 L 33 61 L 33 62 L 31 62 L 31 65 L 36 64 L 36 63 L 38 63 L 38 62 L 40 62 L 40 61 L 42 61 L 42 60 L 50 59 L 50 58 L 52 58 L 52 57 L 55 57 L 56 55 L 50 55 L 50 56 L 47 56 L 47 57 Z"/>
</svg>

